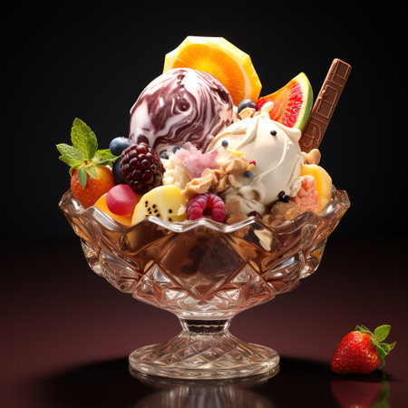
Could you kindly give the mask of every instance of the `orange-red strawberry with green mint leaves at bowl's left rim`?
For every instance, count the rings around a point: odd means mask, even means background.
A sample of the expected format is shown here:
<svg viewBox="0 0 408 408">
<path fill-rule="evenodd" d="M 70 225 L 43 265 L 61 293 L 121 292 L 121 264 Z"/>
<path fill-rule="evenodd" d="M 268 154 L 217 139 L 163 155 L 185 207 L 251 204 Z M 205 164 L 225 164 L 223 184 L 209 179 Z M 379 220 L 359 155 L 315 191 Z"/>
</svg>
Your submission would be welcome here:
<svg viewBox="0 0 408 408">
<path fill-rule="evenodd" d="M 61 153 L 59 159 L 70 166 L 73 197 L 87 209 L 114 186 L 109 166 L 119 156 L 109 149 L 98 150 L 95 133 L 78 118 L 73 121 L 71 141 L 73 146 L 60 143 L 56 147 Z"/>
</svg>

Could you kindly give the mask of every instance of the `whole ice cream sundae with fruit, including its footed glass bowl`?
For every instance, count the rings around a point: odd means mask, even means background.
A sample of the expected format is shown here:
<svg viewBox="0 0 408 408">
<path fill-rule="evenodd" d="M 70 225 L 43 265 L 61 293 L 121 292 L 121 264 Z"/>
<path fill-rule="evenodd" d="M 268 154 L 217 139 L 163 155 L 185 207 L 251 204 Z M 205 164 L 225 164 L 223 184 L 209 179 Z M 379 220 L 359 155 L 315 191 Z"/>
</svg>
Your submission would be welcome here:
<svg viewBox="0 0 408 408">
<path fill-rule="evenodd" d="M 335 60 L 313 103 L 299 73 L 276 92 L 224 38 L 187 37 L 131 108 L 129 134 L 100 149 L 75 119 L 60 208 L 92 270 L 180 318 L 169 341 L 131 353 L 131 372 L 217 379 L 277 373 L 279 357 L 230 319 L 314 273 L 348 209 L 319 143 L 350 66 Z"/>
</svg>

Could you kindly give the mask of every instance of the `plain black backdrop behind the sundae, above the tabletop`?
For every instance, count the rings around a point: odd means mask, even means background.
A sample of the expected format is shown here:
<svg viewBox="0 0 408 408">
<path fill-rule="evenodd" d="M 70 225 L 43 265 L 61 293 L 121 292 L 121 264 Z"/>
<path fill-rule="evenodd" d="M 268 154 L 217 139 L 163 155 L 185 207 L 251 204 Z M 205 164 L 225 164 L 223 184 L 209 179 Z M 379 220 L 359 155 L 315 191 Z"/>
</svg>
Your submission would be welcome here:
<svg viewBox="0 0 408 408">
<path fill-rule="evenodd" d="M 162 72 L 164 55 L 195 34 L 223 36 L 249 53 L 261 95 L 300 72 L 316 95 L 334 58 L 350 63 L 320 146 L 321 164 L 353 204 L 337 234 L 402 236 L 394 215 L 406 187 L 403 13 L 393 3 L 326 3 L 206 2 L 199 13 L 187 2 L 12 6 L 2 15 L 1 69 L 5 190 L 13 193 L 2 206 L 19 216 L 5 219 L 2 234 L 72 235 L 57 207 L 69 178 L 55 145 L 70 143 L 75 117 L 101 148 L 128 135 L 131 106 Z"/>
</svg>

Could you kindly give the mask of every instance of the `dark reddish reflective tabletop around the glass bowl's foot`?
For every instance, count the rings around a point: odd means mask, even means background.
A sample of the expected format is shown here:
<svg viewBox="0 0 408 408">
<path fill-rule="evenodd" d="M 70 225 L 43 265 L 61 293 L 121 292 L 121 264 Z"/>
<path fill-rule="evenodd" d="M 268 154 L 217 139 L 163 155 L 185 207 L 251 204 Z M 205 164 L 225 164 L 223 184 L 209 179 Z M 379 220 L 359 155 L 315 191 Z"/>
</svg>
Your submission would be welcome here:
<svg viewBox="0 0 408 408">
<path fill-rule="evenodd" d="M 175 316 L 93 274 L 77 238 L 3 240 L 1 405 L 408 406 L 407 243 L 329 238 L 320 267 L 300 287 L 234 317 L 234 335 L 277 349 L 277 373 L 177 382 L 128 371 L 131 350 L 177 334 Z M 331 373 L 335 345 L 357 324 L 392 325 L 397 345 L 384 373 Z"/>
</svg>

